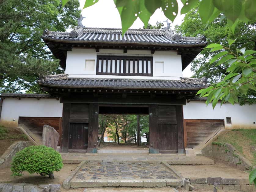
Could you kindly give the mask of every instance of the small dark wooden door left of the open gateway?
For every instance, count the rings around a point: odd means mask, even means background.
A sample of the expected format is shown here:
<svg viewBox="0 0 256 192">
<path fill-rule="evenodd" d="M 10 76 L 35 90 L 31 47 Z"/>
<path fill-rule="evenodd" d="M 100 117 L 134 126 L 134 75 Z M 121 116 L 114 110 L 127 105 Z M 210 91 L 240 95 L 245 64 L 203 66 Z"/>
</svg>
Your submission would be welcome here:
<svg viewBox="0 0 256 192">
<path fill-rule="evenodd" d="M 88 146 L 88 123 L 70 123 L 69 149 L 85 150 Z"/>
</svg>

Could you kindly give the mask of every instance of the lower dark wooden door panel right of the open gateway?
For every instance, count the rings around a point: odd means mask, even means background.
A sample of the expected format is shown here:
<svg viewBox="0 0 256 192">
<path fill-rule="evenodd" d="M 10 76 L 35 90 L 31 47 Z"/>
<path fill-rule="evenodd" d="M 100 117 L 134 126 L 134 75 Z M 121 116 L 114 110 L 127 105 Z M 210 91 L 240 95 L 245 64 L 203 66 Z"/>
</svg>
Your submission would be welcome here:
<svg viewBox="0 0 256 192">
<path fill-rule="evenodd" d="M 173 124 L 159 124 L 158 126 L 159 151 L 177 152 L 177 125 Z"/>
</svg>

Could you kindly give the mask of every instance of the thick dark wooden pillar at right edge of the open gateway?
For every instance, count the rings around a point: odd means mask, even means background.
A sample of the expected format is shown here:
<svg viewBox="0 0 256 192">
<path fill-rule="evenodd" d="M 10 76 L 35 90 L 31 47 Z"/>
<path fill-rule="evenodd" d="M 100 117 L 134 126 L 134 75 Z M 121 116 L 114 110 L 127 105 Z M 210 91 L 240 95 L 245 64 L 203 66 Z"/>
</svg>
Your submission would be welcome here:
<svg viewBox="0 0 256 192">
<path fill-rule="evenodd" d="M 158 147 L 158 105 L 149 105 L 149 153 L 159 153 Z"/>
</svg>

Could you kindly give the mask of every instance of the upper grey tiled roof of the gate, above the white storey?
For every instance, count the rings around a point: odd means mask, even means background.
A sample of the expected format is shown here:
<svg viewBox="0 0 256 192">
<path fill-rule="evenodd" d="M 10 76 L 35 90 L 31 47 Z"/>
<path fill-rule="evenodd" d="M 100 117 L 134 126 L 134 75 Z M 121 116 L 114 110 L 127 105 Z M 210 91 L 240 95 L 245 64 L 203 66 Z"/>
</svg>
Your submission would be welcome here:
<svg viewBox="0 0 256 192">
<path fill-rule="evenodd" d="M 206 45 L 205 36 L 182 37 L 172 30 L 161 29 L 128 29 L 122 36 L 122 29 L 113 28 L 76 28 L 70 33 L 54 32 L 47 29 L 44 39 L 66 42 L 108 42 L 126 44 L 156 44 L 156 45 Z"/>
</svg>

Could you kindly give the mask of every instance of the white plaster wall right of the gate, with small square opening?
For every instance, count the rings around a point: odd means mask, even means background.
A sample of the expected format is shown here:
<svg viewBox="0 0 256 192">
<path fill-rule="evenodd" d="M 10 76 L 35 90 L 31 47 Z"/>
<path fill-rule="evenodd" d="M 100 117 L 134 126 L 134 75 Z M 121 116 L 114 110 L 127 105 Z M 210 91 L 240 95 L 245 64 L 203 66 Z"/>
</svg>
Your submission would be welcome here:
<svg viewBox="0 0 256 192">
<path fill-rule="evenodd" d="M 240 106 L 220 102 L 213 109 L 212 105 L 206 106 L 205 101 L 191 100 L 183 106 L 184 119 L 224 119 L 225 129 L 251 129 L 256 128 L 256 104 Z M 227 117 L 231 117 L 232 124 L 227 124 Z"/>
</svg>

